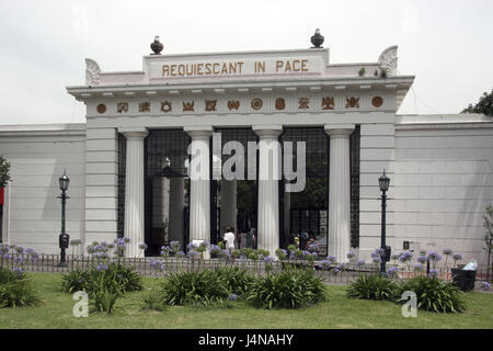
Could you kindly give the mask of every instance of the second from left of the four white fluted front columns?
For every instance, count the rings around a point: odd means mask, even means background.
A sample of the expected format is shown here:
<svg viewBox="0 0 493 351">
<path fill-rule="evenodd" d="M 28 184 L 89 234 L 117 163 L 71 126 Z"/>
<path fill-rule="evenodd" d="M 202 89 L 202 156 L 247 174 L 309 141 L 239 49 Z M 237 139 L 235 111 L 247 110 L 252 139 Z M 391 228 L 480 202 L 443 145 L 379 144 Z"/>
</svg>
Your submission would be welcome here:
<svg viewBox="0 0 493 351">
<path fill-rule="evenodd" d="M 190 241 L 210 242 L 210 154 L 209 138 L 213 128 L 185 127 L 192 137 L 190 146 L 191 197 L 190 197 Z"/>
</svg>

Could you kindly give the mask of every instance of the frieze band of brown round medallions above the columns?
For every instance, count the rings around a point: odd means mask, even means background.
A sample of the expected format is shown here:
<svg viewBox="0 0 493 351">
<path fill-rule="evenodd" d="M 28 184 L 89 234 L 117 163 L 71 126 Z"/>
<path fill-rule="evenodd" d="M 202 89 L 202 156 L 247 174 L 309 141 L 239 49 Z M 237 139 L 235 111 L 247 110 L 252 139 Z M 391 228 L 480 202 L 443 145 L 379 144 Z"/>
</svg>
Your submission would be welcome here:
<svg viewBox="0 0 493 351">
<path fill-rule="evenodd" d="M 92 104 L 91 104 L 92 105 Z M 208 115 L 344 113 L 394 109 L 389 92 L 371 94 L 243 94 L 112 99 L 94 103 L 93 115 Z"/>
</svg>

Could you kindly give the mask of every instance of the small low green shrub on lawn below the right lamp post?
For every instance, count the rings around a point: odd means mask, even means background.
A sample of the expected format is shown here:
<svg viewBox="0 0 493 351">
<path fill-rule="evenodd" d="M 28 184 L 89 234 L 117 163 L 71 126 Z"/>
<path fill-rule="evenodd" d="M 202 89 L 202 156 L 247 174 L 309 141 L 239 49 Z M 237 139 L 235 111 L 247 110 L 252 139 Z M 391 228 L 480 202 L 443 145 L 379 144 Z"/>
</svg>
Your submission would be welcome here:
<svg viewBox="0 0 493 351">
<path fill-rule="evenodd" d="M 392 299 L 397 285 L 390 279 L 378 274 L 360 275 L 347 288 L 347 297 L 364 299 Z"/>
</svg>

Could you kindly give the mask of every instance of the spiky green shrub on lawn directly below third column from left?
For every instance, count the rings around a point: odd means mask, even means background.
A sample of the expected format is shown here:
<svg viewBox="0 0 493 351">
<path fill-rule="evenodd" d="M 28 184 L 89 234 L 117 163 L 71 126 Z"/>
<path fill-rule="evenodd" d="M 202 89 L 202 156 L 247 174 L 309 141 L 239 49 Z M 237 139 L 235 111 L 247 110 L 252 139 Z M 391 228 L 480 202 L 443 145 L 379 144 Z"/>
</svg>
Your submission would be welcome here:
<svg viewBox="0 0 493 351">
<path fill-rule="evenodd" d="M 246 301 L 255 307 L 299 308 L 324 298 L 325 288 L 313 271 L 291 269 L 257 279 Z"/>
</svg>

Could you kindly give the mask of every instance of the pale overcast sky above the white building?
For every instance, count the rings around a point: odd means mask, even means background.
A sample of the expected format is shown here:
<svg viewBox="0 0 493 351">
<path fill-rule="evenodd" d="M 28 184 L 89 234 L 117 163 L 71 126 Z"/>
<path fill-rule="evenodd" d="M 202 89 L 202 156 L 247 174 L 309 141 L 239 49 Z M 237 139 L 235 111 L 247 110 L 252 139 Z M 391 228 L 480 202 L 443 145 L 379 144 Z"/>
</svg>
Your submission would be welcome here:
<svg viewBox="0 0 493 351">
<path fill-rule="evenodd" d="M 141 70 L 154 35 L 163 54 L 310 47 L 331 64 L 376 63 L 398 45 L 416 76 L 398 113 L 459 113 L 493 88 L 492 0 L 0 0 L 0 124 L 84 122 L 66 92 L 103 71 Z"/>
</svg>

